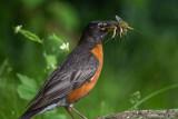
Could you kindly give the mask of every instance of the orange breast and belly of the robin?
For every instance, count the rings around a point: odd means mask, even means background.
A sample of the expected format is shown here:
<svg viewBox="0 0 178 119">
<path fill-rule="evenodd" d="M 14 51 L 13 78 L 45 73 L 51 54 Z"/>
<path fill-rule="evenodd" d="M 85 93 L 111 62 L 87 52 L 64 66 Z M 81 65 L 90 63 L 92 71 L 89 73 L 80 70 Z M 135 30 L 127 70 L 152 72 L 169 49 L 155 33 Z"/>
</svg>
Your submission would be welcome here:
<svg viewBox="0 0 178 119">
<path fill-rule="evenodd" d="M 102 44 L 97 44 L 92 50 L 91 53 L 99 60 L 99 67 L 95 73 L 95 76 L 90 79 L 90 81 L 87 81 L 85 85 L 82 85 L 80 88 L 75 89 L 71 93 L 69 93 L 67 100 L 68 102 L 72 103 L 80 98 L 85 97 L 89 93 L 89 91 L 95 87 L 99 75 L 102 69 L 102 62 L 103 62 L 103 53 L 102 53 Z"/>
</svg>

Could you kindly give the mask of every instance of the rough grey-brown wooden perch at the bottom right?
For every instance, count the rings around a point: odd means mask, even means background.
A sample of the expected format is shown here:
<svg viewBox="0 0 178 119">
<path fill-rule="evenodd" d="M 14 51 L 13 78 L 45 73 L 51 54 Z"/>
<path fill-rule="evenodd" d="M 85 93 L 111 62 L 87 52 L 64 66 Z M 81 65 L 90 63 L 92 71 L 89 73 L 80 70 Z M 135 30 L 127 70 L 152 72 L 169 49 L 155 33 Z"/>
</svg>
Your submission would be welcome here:
<svg viewBox="0 0 178 119">
<path fill-rule="evenodd" d="M 168 110 L 132 110 L 116 115 L 99 117 L 98 119 L 178 119 L 178 109 Z"/>
</svg>

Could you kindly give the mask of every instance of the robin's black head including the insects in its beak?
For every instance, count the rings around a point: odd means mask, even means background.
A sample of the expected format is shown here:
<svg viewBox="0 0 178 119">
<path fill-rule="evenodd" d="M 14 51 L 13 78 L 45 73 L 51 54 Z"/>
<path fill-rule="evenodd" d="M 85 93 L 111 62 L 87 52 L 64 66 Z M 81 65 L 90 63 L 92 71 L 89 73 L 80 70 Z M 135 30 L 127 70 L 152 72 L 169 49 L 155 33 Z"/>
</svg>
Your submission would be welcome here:
<svg viewBox="0 0 178 119">
<path fill-rule="evenodd" d="M 116 21 L 91 21 L 87 26 L 82 36 L 85 38 L 82 39 L 97 43 L 103 41 L 108 33 L 112 33 L 112 38 L 118 34 L 121 37 L 122 34 L 126 34 L 128 30 L 134 29 L 118 16 L 116 16 Z"/>
</svg>

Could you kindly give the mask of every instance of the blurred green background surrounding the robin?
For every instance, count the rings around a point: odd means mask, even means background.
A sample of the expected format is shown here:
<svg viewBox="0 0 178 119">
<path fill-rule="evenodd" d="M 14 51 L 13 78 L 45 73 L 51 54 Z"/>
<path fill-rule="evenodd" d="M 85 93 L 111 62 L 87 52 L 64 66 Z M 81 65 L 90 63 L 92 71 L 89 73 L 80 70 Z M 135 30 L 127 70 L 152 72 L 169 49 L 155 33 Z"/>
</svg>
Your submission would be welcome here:
<svg viewBox="0 0 178 119">
<path fill-rule="evenodd" d="M 93 119 L 128 110 L 144 97 L 178 83 L 177 0 L 1 0 L 0 119 L 17 119 L 52 70 L 50 63 L 60 65 L 69 53 L 50 40 L 51 34 L 68 41 L 72 49 L 88 22 L 111 20 L 116 14 L 135 30 L 103 44 L 105 65 L 100 80 L 76 107 Z M 13 28 L 18 24 L 46 43 L 39 44 L 14 33 Z M 178 108 L 177 100 L 178 88 L 175 88 L 138 108 Z M 67 118 L 61 108 L 37 117 Z"/>
</svg>

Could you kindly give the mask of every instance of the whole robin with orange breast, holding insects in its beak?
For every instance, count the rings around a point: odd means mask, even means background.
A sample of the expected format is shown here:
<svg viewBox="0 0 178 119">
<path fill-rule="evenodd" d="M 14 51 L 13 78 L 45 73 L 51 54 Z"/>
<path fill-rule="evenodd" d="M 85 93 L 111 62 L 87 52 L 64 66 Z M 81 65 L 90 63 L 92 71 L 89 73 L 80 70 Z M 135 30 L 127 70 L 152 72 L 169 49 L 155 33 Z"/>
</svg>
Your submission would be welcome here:
<svg viewBox="0 0 178 119">
<path fill-rule="evenodd" d="M 92 21 L 86 27 L 76 49 L 50 75 L 20 119 L 30 119 L 56 107 L 65 107 L 72 119 L 72 112 L 87 119 L 73 103 L 87 96 L 98 81 L 103 63 L 105 37 L 109 32 L 113 32 L 112 37 L 121 36 L 127 29 L 132 29 L 119 17 L 117 20 Z"/>
</svg>

